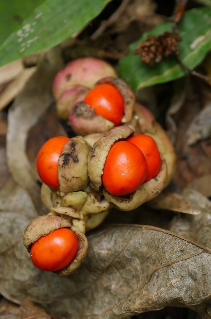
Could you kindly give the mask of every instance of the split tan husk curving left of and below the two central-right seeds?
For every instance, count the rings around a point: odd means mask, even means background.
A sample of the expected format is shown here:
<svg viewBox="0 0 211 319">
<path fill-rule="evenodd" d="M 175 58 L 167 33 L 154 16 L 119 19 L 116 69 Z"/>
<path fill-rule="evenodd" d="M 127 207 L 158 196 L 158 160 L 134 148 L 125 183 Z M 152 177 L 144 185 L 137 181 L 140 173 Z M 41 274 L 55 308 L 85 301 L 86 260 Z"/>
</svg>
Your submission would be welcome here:
<svg viewBox="0 0 211 319">
<path fill-rule="evenodd" d="M 93 144 L 88 155 L 88 175 L 91 186 L 102 191 L 105 199 L 120 210 L 132 210 L 139 207 L 144 202 L 155 198 L 166 186 L 167 165 L 161 154 L 161 167 L 156 177 L 141 184 L 134 192 L 127 196 L 115 196 L 110 194 L 102 184 L 102 174 L 104 164 L 110 148 L 115 142 L 127 140 L 134 134 L 134 130 L 129 126 L 115 127 Z"/>
</svg>

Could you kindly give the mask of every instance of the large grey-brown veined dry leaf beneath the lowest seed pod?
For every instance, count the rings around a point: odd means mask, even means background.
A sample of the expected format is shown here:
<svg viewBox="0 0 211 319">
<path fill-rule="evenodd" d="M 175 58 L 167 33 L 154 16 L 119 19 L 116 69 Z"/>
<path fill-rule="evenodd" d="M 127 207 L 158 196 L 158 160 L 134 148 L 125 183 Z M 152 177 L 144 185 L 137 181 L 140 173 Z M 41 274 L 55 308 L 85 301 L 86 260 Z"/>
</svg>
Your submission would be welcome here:
<svg viewBox="0 0 211 319">
<path fill-rule="evenodd" d="M 152 226 L 110 226 L 88 237 L 82 266 L 59 277 L 32 265 L 21 244 L 29 218 L 19 216 L 0 214 L 4 297 L 19 303 L 28 298 L 71 319 L 131 318 L 166 306 L 211 318 L 210 249 Z"/>
</svg>

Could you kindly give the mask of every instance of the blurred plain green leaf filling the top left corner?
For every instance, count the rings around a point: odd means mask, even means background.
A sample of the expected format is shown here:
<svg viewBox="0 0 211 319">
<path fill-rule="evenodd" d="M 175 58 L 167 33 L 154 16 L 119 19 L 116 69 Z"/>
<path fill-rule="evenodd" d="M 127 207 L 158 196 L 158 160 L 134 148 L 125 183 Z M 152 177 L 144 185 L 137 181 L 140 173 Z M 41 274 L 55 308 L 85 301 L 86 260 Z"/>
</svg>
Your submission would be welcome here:
<svg viewBox="0 0 211 319">
<path fill-rule="evenodd" d="M 23 20 L 43 1 L 10 0 L 9 4 L 8 1 L 0 1 L 0 44 L 9 34 L 20 28 Z"/>
</svg>

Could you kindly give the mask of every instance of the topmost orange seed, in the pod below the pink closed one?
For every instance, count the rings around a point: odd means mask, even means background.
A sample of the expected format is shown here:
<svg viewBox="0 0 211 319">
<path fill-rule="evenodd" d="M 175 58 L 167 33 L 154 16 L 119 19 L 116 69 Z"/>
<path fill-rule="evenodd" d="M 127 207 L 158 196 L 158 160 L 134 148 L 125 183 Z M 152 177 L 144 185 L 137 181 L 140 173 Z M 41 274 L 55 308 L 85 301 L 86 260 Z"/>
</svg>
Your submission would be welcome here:
<svg viewBox="0 0 211 319">
<path fill-rule="evenodd" d="M 97 115 L 113 122 L 121 123 L 124 115 L 124 99 L 114 85 L 103 83 L 90 90 L 84 99 L 85 104 L 94 108 Z"/>
</svg>

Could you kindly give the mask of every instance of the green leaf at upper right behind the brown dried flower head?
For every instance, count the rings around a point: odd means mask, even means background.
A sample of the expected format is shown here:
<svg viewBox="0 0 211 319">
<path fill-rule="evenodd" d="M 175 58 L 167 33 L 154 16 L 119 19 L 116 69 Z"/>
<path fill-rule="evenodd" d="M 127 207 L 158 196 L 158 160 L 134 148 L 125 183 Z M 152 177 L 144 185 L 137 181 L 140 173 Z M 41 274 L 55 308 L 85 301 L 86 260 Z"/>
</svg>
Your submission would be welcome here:
<svg viewBox="0 0 211 319">
<path fill-rule="evenodd" d="M 148 66 L 139 55 L 132 52 L 147 35 L 159 35 L 171 31 L 172 23 L 164 22 L 130 45 L 127 55 L 119 62 L 119 75 L 134 91 L 158 83 L 172 81 L 184 76 L 187 71 L 171 56 L 160 63 Z M 179 58 L 190 69 L 194 69 L 211 50 L 211 8 L 197 8 L 185 12 L 179 23 Z"/>
</svg>

